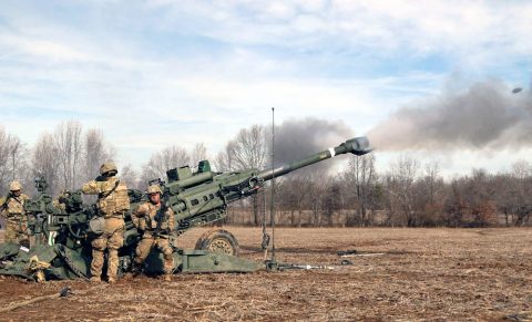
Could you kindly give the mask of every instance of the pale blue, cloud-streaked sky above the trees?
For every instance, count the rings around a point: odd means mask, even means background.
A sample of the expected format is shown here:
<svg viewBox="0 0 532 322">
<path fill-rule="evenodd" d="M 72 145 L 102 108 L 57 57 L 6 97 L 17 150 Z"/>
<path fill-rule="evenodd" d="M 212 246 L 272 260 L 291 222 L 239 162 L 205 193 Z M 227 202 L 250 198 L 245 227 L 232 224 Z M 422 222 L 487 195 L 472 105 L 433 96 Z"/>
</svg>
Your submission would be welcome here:
<svg viewBox="0 0 532 322">
<path fill-rule="evenodd" d="M 523 101 L 532 97 L 532 1 L 0 0 L 0 126 L 31 146 L 78 120 L 135 167 L 170 145 L 203 143 L 214 156 L 238 129 L 269 126 L 272 107 L 276 124 L 341 123 L 352 136 L 382 131 L 405 108 L 441 108 L 434 101 L 479 84 L 497 83 L 503 102 L 532 108 Z M 502 172 L 532 158 L 532 137 L 522 138 L 497 148 L 382 144 L 375 154 L 382 168 L 409 154 L 437 159 L 446 176 Z"/>
</svg>

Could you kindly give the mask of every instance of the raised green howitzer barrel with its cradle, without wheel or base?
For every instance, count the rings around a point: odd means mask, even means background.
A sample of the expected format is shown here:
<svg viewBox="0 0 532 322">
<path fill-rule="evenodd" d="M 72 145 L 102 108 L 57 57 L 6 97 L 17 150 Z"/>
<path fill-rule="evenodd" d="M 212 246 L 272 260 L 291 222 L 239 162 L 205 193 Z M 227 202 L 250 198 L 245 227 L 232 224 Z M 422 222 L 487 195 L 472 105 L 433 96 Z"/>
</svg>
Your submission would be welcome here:
<svg viewBox="0 0 532 322">
<path fill-rule="evenodd" d="M 202 162 L 200 170 L 194 175 L 188 167 L 168 170 L 168 183 L 165 185 L 164 195 L 167 196 L 167 201 L 176 214 L 175 219 L 181 233 L 194 226 L 224 218 L 228 204 L 255 194 L 264 181 L 273 177 L 284 176 L 337 155 L 347 153 L 364 155 L 369 152 L 371 149 L 368 139 L 357 137 L 273 170 L 247 169 L 214 174 L 209 170 L 208 163 Z"/>
</svg>

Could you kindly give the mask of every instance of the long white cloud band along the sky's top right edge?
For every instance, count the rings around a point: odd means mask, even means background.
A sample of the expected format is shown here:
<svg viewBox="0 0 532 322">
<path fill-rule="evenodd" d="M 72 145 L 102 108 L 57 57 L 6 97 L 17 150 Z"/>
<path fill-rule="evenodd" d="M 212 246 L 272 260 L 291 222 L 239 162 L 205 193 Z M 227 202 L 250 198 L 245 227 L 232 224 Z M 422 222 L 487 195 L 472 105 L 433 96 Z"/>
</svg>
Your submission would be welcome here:
<svg viewBox="0 0 532 322">
<path fill-rule="evenodd" d="M 313 4 L 315 3 L 315 4 Z M 152 3 L 153 4 L 153 3 Z M 371 50 L 381 56 L 407 52 L 446 54 L 463 64 L 497 64 L 498 56 L 532 51 L 532 2 L 493 1 L 224 1 L 216 6 L 158 3 L 167 28 L 183 15 L 209 21 L 195 32 L 235 44 L 313 49 L 325 43 L 347 50 Z M 214 19 L 223 14 L 223 20 Z M 174 14 L 174 15 L 172 15 Z"/>
</svg>

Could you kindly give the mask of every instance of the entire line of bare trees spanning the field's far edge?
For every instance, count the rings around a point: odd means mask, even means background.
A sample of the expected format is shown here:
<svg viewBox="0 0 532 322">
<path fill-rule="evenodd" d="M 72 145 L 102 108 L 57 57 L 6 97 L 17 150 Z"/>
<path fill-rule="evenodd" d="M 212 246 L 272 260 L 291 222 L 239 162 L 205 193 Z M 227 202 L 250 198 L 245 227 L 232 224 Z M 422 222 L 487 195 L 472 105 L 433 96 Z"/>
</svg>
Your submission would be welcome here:
<svg viewBox="0 0 532 322">
<path fill-rule="evenodd" d="M 269 166 L 268 131 L 254 125 L 241 129 L 215 157 L 203 144 L 187 150 L 171 145 L 154 153 L 140 169 L 119 160 L 120 177 L 132 188 L 145 189 L 166 170 L 212 159 L 219 172 Z M 290 138 L 279 138 L 288 142 Z M 305 144 L 305 143 L 301 143 Z M 59 124 L 42 133 L 33 146 L 0 127 L 0 188 L 19 179 L 34 194 L 33 180 L 43 176 L 52 195 L 78 189 L 98 175 L 100 165 L 114 159 L 116 149 L 101 131 L 83 129 L 79 122 Z M 349 156 L 339 174 L 314 165 L 276 180 L 276 221 L 285 226 L 487 227 L 523 226 L 532 214 L 532 165 L 522 160 L 507 173 L 471 174 L 444 180 L 437 162 L 420 164 L 401 156 L 388 169 L 376 169 L 375 154 Z M 270 186 L 231 207 L 227 224 L 269 222 Z"/>
</svg>

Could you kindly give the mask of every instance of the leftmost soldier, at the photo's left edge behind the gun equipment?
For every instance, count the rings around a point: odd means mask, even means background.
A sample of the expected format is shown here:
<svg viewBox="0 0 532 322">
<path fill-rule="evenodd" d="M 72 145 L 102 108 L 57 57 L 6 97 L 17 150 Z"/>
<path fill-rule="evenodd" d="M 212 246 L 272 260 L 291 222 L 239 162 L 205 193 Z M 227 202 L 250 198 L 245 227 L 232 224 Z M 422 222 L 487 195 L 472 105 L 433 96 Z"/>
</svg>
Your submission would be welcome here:
<svg viewBox="0 0 532 322">
<path fill-rule="evenodd" d="M 6 218 L 6 242 L 19 242 L 30 247 L 28 233 L 28 215 L 24 211 L 24 202 L 30 199 L 22 194 L 22 185 L 19 181 L 12 181 L 9 185 L 9 194 L 1 202 L 1 216 Z"/>
</svg>

